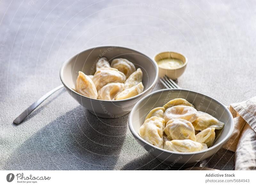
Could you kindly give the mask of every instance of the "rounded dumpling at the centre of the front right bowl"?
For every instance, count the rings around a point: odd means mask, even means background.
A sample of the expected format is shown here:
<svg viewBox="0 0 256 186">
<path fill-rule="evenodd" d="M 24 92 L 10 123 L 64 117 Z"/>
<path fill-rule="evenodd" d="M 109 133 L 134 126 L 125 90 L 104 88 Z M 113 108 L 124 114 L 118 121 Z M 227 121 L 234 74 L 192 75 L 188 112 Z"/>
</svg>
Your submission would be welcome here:
<svg viewBox="0 0 256 186">
<path fill-rule="evenodd" d="M 166 123 L 164 133 L 173 140 L 190 139 L 196 141 L 196 135 L 193 125 L 183 119 L 173 119 Z"/>
</svg>

